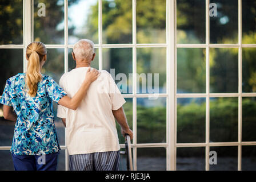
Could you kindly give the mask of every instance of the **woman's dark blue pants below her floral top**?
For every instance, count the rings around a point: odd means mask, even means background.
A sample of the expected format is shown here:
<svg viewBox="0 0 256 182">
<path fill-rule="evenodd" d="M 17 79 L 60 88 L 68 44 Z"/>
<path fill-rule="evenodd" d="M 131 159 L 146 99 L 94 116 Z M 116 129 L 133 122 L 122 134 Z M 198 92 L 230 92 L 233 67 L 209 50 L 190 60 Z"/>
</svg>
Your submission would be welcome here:
<svg viewBox="0 0 256 182">
<path fill-rule="evenodd" d="M 56 171 L 58 154 L 11 155 L 15 171 Z"/>
</svg>

